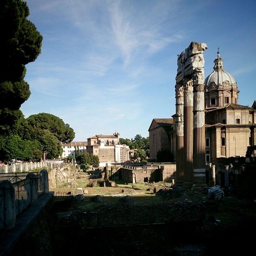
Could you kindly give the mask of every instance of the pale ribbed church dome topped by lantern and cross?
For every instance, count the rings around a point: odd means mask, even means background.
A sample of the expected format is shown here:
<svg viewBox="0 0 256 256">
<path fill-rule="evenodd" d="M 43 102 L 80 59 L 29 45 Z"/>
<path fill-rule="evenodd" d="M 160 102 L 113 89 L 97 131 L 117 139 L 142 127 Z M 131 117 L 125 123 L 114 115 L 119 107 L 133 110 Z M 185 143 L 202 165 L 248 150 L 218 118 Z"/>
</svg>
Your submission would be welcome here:
<svg viewBox="0 0 256 256">
<path fill-rule="evenodd" d="M 206 88 L 212 87 L 211 85 L 213 84 L 216 86 L 222 85 L 225 81 L 229 82 L 232 88 L 237 88 L 234 77 L 224 70 L 223 59 L 220 58 L 220 52 L 218 52 L 218 58 L 214 60 L 214 64 L 214 71 L 207 76 L 204 81 Z"/>
</svg>

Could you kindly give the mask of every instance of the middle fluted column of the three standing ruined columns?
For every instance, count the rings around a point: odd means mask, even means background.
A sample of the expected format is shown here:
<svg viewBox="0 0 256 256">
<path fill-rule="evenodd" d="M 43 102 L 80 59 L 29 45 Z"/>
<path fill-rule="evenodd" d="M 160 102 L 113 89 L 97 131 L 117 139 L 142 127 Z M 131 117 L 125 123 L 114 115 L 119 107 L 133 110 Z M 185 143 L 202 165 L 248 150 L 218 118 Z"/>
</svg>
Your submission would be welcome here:
<svg viewBox="0 0 256 256">
<path fill-rule="evenodd" d="M 184 187 L 193 184 L 193 82 L 184 80 Z"/>
</svg>

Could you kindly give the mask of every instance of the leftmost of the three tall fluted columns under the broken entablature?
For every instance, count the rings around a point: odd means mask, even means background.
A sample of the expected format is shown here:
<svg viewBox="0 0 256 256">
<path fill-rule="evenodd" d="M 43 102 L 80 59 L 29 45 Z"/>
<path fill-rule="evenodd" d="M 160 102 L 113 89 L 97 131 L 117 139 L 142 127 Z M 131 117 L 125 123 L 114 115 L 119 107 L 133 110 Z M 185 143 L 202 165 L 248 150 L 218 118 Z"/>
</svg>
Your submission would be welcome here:
<svg viewBox="0 0 256 256">
<path fill-rule="evenodd" d="M 175 98 L 176 98 L 176 117 L 175 117 L 175 130 L 176 130 L 176 184 L 183 184 L 184 182 L 184 132 L 183 132 L 183 115 L 184 115 L 184 91 L 182 84 L 175 85 Z"/>
</svg>

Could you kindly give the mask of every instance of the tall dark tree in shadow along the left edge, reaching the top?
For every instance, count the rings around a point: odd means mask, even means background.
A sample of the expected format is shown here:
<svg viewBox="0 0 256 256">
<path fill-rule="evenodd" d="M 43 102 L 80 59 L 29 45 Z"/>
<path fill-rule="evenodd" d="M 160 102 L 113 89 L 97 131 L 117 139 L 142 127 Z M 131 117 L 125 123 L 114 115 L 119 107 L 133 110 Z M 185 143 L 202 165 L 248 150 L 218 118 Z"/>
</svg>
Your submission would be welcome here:
<svg viewBox="0 0 256 256">
<path fill-rule="evenodd" d="M 23 0 L 0 1 L 0 135 L 13 134 L 17 129 L 22 117 L 19 108 L 30 96 L 24 81 L 25 65 L 36 60 L 41 51 L 42 36 L 28 15 Z"/>
</svg>

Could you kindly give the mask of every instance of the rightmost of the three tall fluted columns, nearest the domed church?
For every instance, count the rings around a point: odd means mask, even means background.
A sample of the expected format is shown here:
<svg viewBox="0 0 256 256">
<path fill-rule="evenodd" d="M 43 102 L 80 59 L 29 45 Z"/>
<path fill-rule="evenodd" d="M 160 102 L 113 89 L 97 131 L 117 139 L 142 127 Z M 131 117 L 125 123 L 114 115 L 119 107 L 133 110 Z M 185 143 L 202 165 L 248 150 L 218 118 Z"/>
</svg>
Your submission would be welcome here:
<svg viewBox="0 0 256 256">
<path fill-rule="evenodd" d="M 205 176 L 205 120 L 204 120 L 204 69 L 194 72 L 193 79 L 193 188 L 203 188 L 206 185 Z"/>
</svg>

